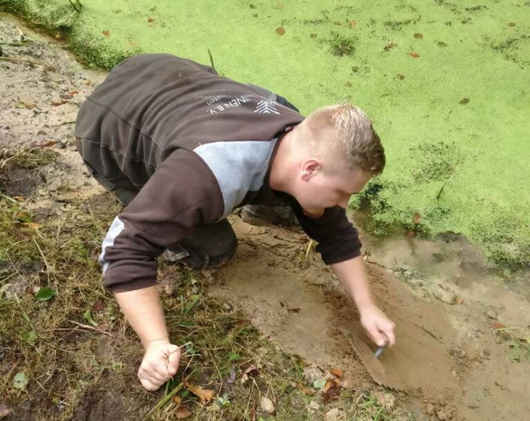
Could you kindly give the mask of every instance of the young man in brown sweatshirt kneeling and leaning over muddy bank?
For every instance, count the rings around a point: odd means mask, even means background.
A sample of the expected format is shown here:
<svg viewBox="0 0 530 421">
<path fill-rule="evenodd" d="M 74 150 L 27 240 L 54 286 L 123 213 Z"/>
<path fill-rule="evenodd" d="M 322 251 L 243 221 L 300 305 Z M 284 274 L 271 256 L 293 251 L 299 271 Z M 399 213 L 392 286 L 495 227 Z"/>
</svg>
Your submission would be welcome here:
<svg viewBox="0 0 530 421">
<path fill-rule="evenodd" d="M 100 262 L 104 285 L 144 345 L 138 376 L 148 391 L 177 372 L 180 357 L 155 285 L 157 256 L 193 268 L 223 264 L 237 246 L 226 216 L 248 204 L 253 218 L 271 216 L 256 205 L 290 206 L 369 335 L 394 343 L 344 211 L 384 168 L 380 139 L 359 108 L 329 106 L 304 119 L 282 97 L 213 68 L 139 55 L 88 97 L 75 131 L 92 175 L 128 205 L 110 226 Z"/>
</svg>

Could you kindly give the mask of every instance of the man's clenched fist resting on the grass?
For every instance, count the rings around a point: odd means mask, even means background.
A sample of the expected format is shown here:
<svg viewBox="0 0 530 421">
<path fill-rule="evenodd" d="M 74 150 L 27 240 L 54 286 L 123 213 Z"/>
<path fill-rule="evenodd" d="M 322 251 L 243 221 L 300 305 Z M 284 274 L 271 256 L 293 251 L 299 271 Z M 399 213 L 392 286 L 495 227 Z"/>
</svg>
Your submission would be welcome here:
<svg viewBox="0 0 530 421">
<path fill-rule="evenodd" d="M 153 392 L 167 382 L 179 368 L 180 348 L 167 340 L 154 340 L 146 346 L 144 360 L 138 370 L 141 385 Z"/>
</svg>

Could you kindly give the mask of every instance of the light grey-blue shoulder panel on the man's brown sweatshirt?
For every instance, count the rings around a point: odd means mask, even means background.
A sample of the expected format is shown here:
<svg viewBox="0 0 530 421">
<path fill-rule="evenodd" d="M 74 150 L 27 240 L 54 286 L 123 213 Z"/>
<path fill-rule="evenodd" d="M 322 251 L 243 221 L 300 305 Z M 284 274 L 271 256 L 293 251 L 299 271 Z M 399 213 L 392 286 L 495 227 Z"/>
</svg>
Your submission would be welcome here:
<svg viewBox="0 0 530 421">
<path fill-rule="evenodd" d="M 246 193 L 262 187 L 277 139 L 272 141 L 217 141 L 193 151 L 212 170 L 223 195 L 225 218 Z"/>
</svg>

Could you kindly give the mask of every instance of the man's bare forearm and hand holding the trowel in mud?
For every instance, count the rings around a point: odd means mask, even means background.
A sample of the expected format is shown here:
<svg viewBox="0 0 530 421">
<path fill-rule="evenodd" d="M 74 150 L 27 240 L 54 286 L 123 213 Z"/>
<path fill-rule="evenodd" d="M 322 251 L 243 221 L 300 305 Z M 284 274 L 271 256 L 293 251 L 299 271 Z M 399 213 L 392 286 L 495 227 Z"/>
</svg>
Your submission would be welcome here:
<svg viewBox="0 0 530 421">
<path fill-rule="evenodd" d="M 377 346 L 395 343 L 395 324 L 375 305 L 370 292 L 362 256 L 331 264 L 346 291 L 353 298 L 360 314 L 361 324 Z"/>
</svg>

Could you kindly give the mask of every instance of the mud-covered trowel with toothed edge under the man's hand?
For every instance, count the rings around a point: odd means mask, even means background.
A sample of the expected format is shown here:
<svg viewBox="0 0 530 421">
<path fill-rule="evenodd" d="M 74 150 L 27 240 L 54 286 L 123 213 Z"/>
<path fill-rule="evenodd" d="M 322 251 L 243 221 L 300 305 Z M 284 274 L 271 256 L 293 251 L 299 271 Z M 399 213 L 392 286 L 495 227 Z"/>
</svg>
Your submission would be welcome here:
<svg viewBox="0 0 530 421">
<path fill-rule="evenodd" d="M 355 351 L 355 354 L 359 357 L 374 382 L 395 391 L 405 390 L 403 384 L 400 384 L 400 382 L 391 378 L 395 376 L 387 375 L 383 364 L 379 360 L 379 357 L 386 346 L 380 346 L 374 353 L 364 341 L 360 340 L 360 338 L 355 336 L 351 331 L 342 328 L 340 328 L 340 331 L 342 335 L 344 335 L 344 338 L 349 342 L 353 351 Z"/>
</svg>

